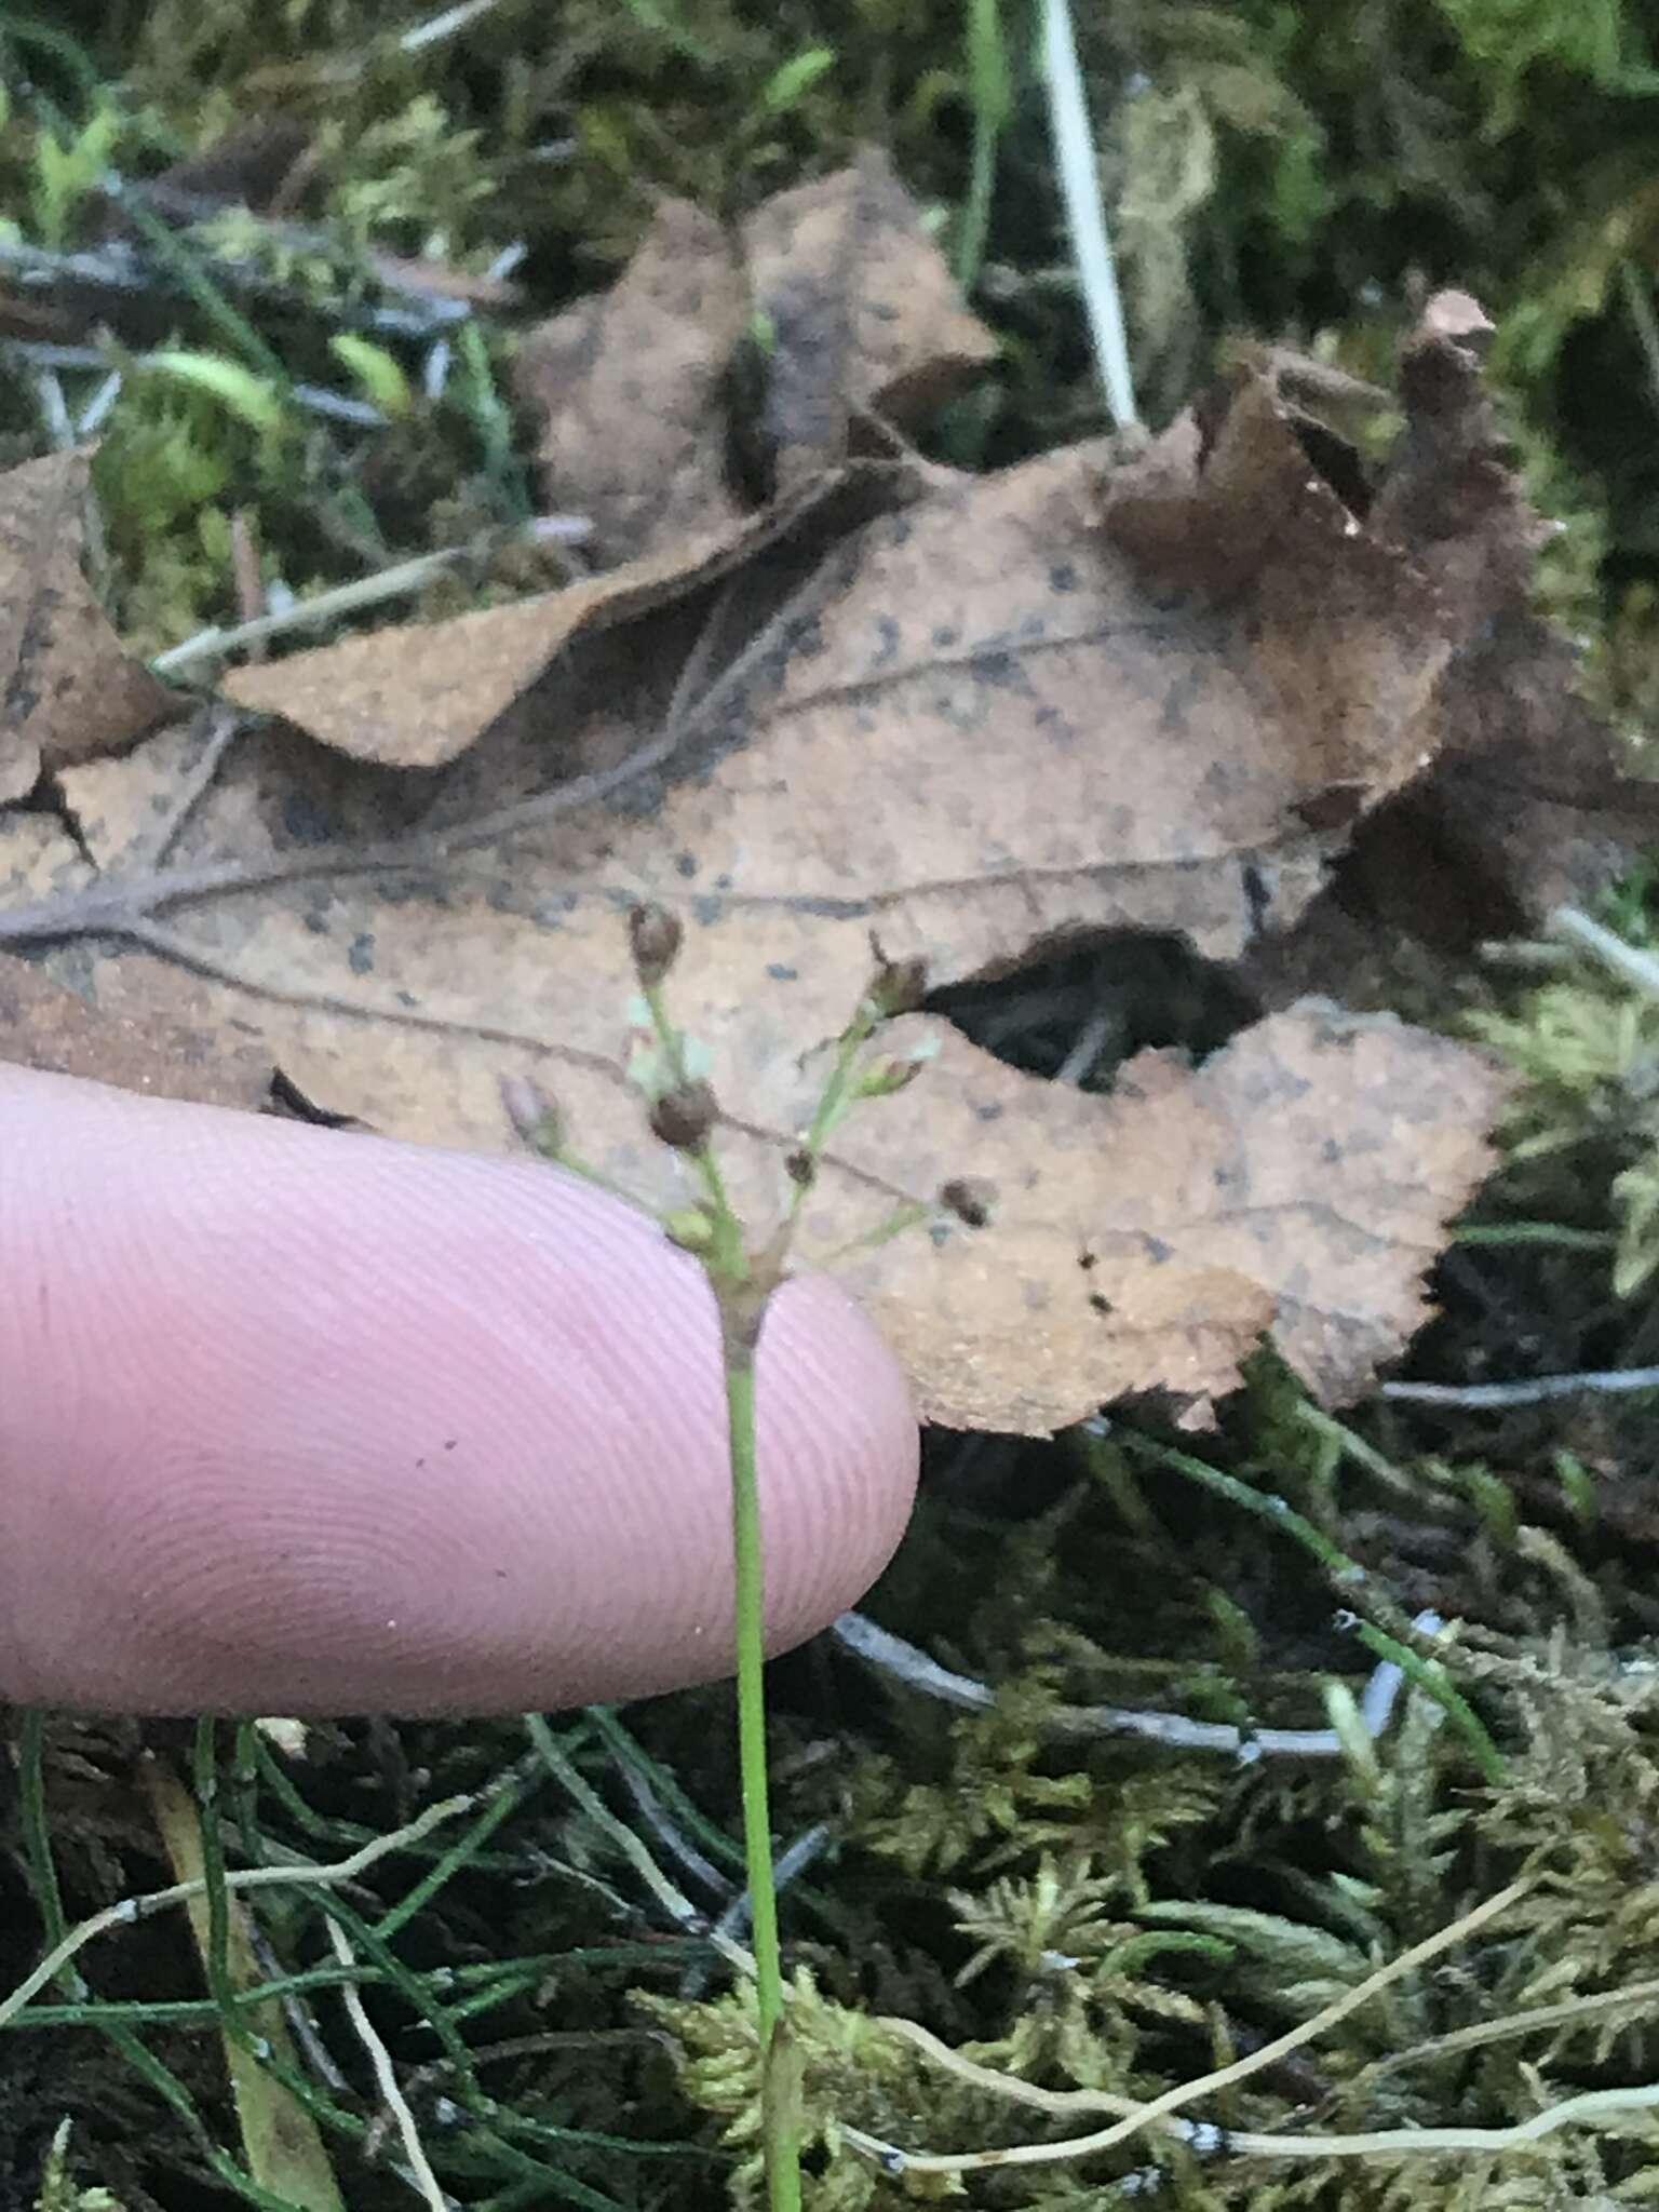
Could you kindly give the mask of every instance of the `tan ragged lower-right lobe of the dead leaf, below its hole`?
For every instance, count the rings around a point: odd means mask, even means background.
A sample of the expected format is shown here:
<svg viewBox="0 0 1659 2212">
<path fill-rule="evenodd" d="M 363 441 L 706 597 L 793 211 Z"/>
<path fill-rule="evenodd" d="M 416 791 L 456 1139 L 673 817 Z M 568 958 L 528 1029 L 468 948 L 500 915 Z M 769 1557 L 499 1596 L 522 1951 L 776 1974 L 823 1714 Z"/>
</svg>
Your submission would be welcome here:
<svg viewBox="0 0 1659 2212">
<path fill-rule="evenodd" d="M 1197 1071 L 1144 1053 L 1108 1097 L 958 1037 L 925 1084 L 838 1150 L 911 1186 L 947 1159 L 995 1188 L 991 1228 L 898 1241 L 860 1287 L 936 1418 L 1015 1431 L 1150 1389 L 1206 1420 L 1261 1338 L 1327 1402 L 1358 1396 L 1427 1318 L 1506 1088 L 1444 1037 L 1323 1002 Z"/>
</svg>

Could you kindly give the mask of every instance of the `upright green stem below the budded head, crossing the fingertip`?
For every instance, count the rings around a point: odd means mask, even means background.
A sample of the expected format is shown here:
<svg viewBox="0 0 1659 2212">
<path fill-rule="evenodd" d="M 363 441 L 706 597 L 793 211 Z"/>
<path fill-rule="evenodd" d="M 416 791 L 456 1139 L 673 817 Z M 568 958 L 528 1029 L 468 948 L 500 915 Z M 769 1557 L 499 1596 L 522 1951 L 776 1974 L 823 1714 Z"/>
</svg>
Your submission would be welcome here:
<svg viewBox="0 0 1659 2212">
<path fill-rule="evenodd" d="M 754 1938 L 754 2004 L 761 2081 L 770 2088 L 772 2039 L 783 2020 L 779 1896 L 772 1882 L 772 1812 L 765 1774 L 765 1571 L 761 1562 L 761 1484 L 754 1440 L 754 1347 L 726 1352 L 726 1420 L 732 1458 L 732 1564 L 737 1573 L 737 1765 L 743 1785 L 743 1863 Z M 768 2099 L 770 2101 L 770 2099 Z M 801 2205 L 801 2157 L 792 2128 L 768 2112 L 765 2188 L 772 2212 Z"/>
</svg>

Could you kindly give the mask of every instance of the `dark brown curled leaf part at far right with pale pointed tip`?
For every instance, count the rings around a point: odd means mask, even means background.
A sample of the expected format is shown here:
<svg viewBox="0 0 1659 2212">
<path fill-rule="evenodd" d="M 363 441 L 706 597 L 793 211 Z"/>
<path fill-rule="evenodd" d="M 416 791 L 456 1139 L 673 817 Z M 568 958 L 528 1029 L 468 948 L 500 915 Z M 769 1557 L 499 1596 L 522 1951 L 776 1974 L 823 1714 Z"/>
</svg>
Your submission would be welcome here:
<svg viewBox="0 0 1659 2212">
<path fill-rule="evenodd" d="M 1436 752 L 1360 827 L 1294 938 L 1252 956 L 1272 1002 L 1310 987 L 1369 998 L 1402 967 L 1467 958 L 1595 896 L 1659 836 L 1659 785 L 1632 774 L 1584 697 L 1575 646 L 1533 608 L 1548 526 L 1482 385 L 1489 338 L 1467 294 L 1429 301 L 1402 356 L 1407 429 L 1367 513 L 1431 582 L 1453 644 Z"/>
</svg>

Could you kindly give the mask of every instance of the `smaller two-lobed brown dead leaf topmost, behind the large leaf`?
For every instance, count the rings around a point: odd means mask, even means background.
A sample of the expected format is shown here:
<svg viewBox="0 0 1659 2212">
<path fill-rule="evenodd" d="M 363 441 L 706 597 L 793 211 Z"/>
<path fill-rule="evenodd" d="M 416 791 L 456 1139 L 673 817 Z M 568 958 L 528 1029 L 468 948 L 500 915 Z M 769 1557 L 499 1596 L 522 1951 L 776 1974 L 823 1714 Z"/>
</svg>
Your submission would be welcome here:
<svg viewBox="0 0 1659 2212">
<path fill-rule="evenodd" d="M 860 416 L 911 427 L 993 356 L 891 161 L 865 150 L 739 234 L 666 201 L 606 294 L 529 334 L 520 394 L 549 502 L 633 560 L 743 511 L 734 449 L 790 491 L 847 458 Z"/>
</svg>

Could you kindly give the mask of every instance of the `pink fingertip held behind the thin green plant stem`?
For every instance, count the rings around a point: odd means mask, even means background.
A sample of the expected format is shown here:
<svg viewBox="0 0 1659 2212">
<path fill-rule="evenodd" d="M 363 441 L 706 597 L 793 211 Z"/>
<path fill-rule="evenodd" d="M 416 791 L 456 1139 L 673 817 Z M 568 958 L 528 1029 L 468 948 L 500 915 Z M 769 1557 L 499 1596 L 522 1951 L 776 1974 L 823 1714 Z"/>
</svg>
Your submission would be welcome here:
<svg viewBox="0 0 1659 2212">
<path fill-rule="evenodd" d="M 825 1281 L 759 1358 L 768 1635 L 889 1557 L 905 1380 Z M 509 1712 L 730 1672 L 714 1307 L 473 1159 L 0 1071 L 0 1697 Z"/>
</svg>

